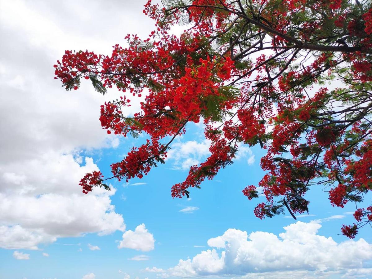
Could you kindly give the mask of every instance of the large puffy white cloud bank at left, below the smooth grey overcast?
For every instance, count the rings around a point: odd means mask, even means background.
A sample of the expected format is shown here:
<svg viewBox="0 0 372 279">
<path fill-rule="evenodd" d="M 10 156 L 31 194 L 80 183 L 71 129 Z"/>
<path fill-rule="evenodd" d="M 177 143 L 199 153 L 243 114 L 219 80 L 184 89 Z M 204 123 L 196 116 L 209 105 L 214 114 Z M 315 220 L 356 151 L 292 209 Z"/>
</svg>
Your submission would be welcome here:
<svg viewBox="0 0 372 279">
<path fill-rule="evenodd" d="M 122 215 L 111 204 L 115 189 L 81 193 L 80 178 L 98 170 L 92 158 L 85 158 L 80 166 L 73 155 L 51 152 L 21 165 L 0 163 L 0 169 L 4 173 L 0 176 L 2 248 L 37 249 L 39 243 L 51 243 L 57 237 L 125 230 Z"/>
</svg>

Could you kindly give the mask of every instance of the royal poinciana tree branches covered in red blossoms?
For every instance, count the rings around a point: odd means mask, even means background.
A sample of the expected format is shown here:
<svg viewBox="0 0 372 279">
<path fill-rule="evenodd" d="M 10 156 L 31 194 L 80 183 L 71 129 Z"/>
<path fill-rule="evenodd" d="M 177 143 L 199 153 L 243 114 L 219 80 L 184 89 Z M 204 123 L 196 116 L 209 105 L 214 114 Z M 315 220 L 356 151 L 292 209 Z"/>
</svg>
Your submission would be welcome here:
<svg viewBox="0 0 372 279">
<path fill-rule="evenodd" d="M 91 80 L 102 94 L 122 97 L 101 106 L 108 134 L 148 134 L 113 163 L 112 177 L 87 173 L 83 192 L 116 178 L 142 178 L 164 163 L 187 123 L 202 121 L 211 155 L 173 185 L 174 198 L 189 197 L 241 145 L 260 145 L 266 175 L 243 189 L 264 195 L 259 218 L 309 210 L 307 191 L 329 191 L 333 206 L 355 202 L 355 223 L 341 231 L 353 238 L 372 224 L 372 206 L 358 207 L 372 190 L 372 6 L 357 0 L 148 1 L 154 19 L 148 38 L 128 35 L 110 55 L 66 51 L 55 67 L 67 90 Z M 180 36 L 173 25 L 185 25 Z M 145 95 L 141 110 L 126 117 L 128 97 Z M 365 203 L 364 203 L 365 204 Z"/>
</svg>

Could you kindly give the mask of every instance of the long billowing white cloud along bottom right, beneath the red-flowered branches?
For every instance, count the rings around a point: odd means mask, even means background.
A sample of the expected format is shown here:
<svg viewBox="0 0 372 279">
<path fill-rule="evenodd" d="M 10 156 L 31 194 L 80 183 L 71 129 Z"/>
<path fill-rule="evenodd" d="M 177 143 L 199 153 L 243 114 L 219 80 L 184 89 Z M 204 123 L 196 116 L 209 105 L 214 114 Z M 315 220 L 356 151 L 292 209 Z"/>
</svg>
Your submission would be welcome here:
<svg viewBox="0 0 372 279">
<path fill-rule="evenodd" d="M 180 260 L 166 275 L 299 278 L 300 273 L 310 277 L 337 273 L 341 276 L 361 269 L 363 262 L 372 259 L 372 245 L 365 240 L 336 243 L 331 237 L 318 235 L 320 227 L 319 223 L 298 221 L 284 227 L 285 232 L 279 236 L 263 231 L 248 236 L 246 231 L 228 229 L 222 236 L 208 240 L 211 250 Z M 218 253 L 218 249 L 223 250 Z M 156 272 L 154 268 L 147 269 L 150 270 Z"/>
</svg>

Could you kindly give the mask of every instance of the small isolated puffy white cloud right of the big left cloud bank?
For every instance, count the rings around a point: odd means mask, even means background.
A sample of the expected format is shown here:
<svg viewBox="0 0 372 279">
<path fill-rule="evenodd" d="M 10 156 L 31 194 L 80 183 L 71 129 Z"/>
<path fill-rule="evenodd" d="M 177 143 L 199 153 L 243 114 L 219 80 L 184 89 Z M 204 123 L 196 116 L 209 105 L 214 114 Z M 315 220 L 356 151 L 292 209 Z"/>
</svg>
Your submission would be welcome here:
<svg viewBox="0 0 372 279">
<path fill-rule="evenodd" d="M 148 232 L 145 224 L 138 225 L 134 231 L 128 230 L 123 234 L 118 248 L 130 248 L 148 252 L 154 250 L 154 236 Z"/>
</svg>

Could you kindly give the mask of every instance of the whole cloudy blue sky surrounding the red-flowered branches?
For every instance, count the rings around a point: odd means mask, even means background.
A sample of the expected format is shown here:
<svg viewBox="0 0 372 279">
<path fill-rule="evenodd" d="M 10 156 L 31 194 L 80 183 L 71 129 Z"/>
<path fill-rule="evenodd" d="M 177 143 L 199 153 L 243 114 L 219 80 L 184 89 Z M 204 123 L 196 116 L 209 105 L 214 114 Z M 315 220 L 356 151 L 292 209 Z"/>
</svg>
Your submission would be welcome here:
<svg viewBox="0 0 372 279">
<path fill-rule="evenodd" d="M 258 147 L 172 199 L 171 186 L 209 154 L 199 124 L 144 178 L 81 192 L 86 172 L 109 176 L 145 137 L 108 135 L 100 105 L 120 93 L 102 96 L 89 81 L 65 91 L 53 64 L 66 49 L 109 54 L 128 33 L 147 38 L 143 4 L 0 0 L 0 279 L 372 278 L 370 229 L 340 236 L 355 205 L 332 207 L 327 189 L 311 189 L 310 214 L 297 221 L 254 217 L 263 200 L 241 191 L 264 175 Z M 127 115 L 139 108 L 131 100 Z"/>
</svg>

